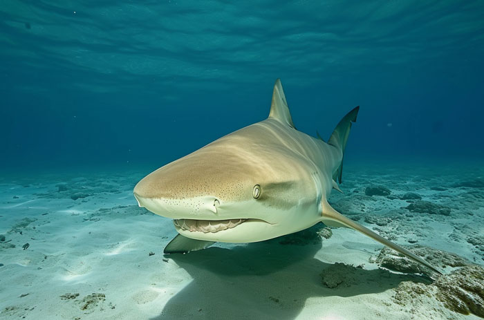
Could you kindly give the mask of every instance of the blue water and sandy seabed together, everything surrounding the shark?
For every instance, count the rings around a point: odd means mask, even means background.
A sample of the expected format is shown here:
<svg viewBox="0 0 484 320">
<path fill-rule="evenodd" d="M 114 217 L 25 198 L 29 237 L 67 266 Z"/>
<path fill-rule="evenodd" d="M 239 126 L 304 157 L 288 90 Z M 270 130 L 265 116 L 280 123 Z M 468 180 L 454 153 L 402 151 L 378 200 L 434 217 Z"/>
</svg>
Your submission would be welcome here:
<svg viewBox="0 0 484 320">
<path fill-rule="evenodd" d="M 483 17 L 483 1 L 0 1 L 0 319 L 484 317 L 482 294 L 454 299 L 484 292 Z M 321 224 L 162 255 L 176 232 L 134 185 L 264 120 L 277 78 L 309 135 L 360 106 L 331 203 L 452 280 Z"/>
</svg>

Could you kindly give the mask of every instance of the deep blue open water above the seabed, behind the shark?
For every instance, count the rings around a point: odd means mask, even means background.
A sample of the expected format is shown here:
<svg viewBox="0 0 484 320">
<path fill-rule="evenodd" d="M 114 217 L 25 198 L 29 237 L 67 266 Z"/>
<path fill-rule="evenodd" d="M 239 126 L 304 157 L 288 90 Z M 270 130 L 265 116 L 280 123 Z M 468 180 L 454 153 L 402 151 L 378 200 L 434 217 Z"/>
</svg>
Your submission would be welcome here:
<svg viewBox="0 0 484 320">
<path fill-rule="evenodd" d="M 3 1 L 3 169 L 159 167 L 267 117 L 360 105 L 348 161 L 481 160 L 482 1 Z"/>
</svg>

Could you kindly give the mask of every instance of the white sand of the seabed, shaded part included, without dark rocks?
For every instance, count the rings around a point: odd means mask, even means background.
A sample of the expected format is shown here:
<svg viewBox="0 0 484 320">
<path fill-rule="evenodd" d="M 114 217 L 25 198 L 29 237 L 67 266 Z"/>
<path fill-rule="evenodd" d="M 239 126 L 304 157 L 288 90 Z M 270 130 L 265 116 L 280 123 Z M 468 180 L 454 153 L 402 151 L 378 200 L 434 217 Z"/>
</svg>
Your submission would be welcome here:
<svg viewBox="0 0 484 320">
<path fill-rule="evenodd" d="M 163 248 L 176 235 L 171 221 L 138 209 L 131 194 L 144 173 L 0 180 L 0 234 L 10 241 L 0 247 L 0 319 L 478 319 L 451 312 L 436 299 L 418 308 L 395 303 L 394 288 L 415 277 L 382 276 L 369 263 L 382 246 L 349 229 L 333 229 L 322 244 L 216 244 L 164 257 Z M 364 178 L 347 173 L 348 184 L 342 186 L 347 195 L 331 200 L 357 202 L 353 189 L 361 194 L 376 182 L 389 187 L 389 179 L 398 180 L 391 173 Z M 67 190 L 59 192 L 56 185 L 63 180 Z M 437 201 L 436 191 L 424 188 L 429 181 L 399 183 L 393 183 L 395 192 L 407 188 Z M 416 190 L 419 185 L 424 189 Z M 78 192 L 91 195 L 71 199 Z M 383 197 L 366 201 L 367 211 L 379 217 L 404 205 Z M 482 209 L 469 210 L 473 216 L 415 214 L 399 221 L 400 231 L 394 225 L 380 228 L 397 235 L 398 243 L 416 238 L 483 264 L 472 245 L 458 240 L 483 225 Z M 25 225 L 24 218 L 32 222 Z M 467 227 L 456 230 L 456 225 Z M 334 270 L 334 263 L 355 266 L 349 285 L 323 285 L 320 274 Z M 93 293 L 104 294 L 104 301 L 83 301 Z M 64 294 L 79 295 L 62 299 Z"/>
</svg>

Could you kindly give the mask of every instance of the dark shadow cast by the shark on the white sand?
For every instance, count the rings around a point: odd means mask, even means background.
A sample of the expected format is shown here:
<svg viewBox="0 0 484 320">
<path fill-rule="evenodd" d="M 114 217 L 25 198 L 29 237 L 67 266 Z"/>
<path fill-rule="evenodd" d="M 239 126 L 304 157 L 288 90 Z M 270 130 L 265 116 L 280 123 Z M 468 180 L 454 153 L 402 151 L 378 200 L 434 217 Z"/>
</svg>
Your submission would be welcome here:
<svg viewBox="0 0 484 320">
<path fill-rule="evenodd" d="M 316 234 L 314 232 L 314 234 Z M 385 270 L 331 265 L 314 258 L 321 244 L 281 245 L 281 237 L 232 248 L 171 254 L 193 281 L 172 297 L 158 319 L 295 319 L 310 297 L 383 292 L 402 281 L 426 281 Z M 288 242 L 288 241 L 286 241 Z M 344 267 L 344 274 L 338 272 Z M 335 288 L 320 274 L 344 279 Z M 316 315 L 315 315 L 316 316 Z"/>
</svg>

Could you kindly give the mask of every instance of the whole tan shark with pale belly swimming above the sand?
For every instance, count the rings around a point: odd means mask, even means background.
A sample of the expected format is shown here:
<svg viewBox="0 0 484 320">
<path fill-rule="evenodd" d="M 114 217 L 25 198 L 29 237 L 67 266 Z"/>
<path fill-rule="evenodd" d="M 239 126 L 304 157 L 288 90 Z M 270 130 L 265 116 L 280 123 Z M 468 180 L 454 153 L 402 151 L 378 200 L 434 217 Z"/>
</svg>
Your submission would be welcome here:
<svg viewBox="0 0 484 320">
<path fill-rule="evenodd" d="M 165 253 L 201 250 L 215 242 L 252 243 L 322 221 L 349 227 L 431 270 L 427 261 L 337 212 L 344 149 L 360 107 L 346 114 L 327 142 L 297 131 L 281 81 L 269 117 L 225 135 L 153 171 L 133 190 L 140 207 L 173 219 L 178 235 Z M 439 272 L 440 273 L 440 272 Z"/>
</svg>

